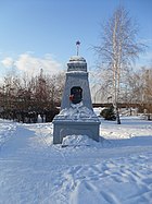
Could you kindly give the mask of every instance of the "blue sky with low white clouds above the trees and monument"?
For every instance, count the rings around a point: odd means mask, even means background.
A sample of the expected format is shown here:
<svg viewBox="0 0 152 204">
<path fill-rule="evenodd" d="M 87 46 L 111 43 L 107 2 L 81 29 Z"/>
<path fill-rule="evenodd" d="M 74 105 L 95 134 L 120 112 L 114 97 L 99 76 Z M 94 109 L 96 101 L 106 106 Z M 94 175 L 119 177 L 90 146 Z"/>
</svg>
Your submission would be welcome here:
<svg viewBox="0 0 152 204">
<path fill-rule="evenodd" d="M 138 38 L 149 45 L 137 63 L 152 63 L 152 0 L 0 0 L 0 74 L 12 67 L 30 73 L 65 69 L 78 39 L 80 56 L 93 69 L 91 47 L 100 41 L 100 24 L 119 3 L 139 23 Z"/>
</svg>

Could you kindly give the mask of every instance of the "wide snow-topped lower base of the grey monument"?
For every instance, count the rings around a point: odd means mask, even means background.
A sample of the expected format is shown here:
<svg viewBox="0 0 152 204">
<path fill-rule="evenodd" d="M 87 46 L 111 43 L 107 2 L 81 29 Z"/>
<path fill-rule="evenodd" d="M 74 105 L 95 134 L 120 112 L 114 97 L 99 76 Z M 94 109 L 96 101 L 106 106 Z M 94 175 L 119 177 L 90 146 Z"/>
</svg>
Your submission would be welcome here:
<svg viewBox="0 0 152 204">
<path fill-rule="evenodd" d="M 67 135 L 87 135 L 99 142 L 100 120 L 93 109 L 84 106 L 83 101 L 61 110 L 53 124 L 53 144 L 61 144 Z"/>
</svg>

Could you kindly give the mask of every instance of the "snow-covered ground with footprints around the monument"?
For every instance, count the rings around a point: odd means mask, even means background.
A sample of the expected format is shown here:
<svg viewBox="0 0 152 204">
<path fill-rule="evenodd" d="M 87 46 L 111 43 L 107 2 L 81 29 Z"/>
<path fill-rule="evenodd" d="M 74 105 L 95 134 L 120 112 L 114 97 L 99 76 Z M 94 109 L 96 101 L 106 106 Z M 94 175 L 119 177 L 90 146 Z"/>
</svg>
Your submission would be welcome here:
<svg viewBox="0 0 152 204">
<path fill-rule="evenodd" d="M 0 204 L 151 204 L 152 121 L 102 120 L 99 143 L 0 120 Z"/>
</svg>

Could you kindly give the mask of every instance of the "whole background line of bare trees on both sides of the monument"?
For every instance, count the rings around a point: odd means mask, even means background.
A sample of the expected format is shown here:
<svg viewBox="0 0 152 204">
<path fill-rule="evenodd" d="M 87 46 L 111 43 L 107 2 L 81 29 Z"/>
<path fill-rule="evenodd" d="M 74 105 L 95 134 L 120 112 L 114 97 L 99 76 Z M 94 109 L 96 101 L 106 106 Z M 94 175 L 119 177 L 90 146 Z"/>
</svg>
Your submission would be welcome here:
<svg viewBox="0 0 152 204">
<path fill-rule="evenodd" d="M 94 72 L 91 79 L 93 103 L 113 104 L 113 88 L 106 69 Z M 52 121 L 59 113 L 65 82 L 65 73 L 45 74 L 42 70 L 36 76 L 8 73 L 0 85 L 0 117 L 22 122 Z M 152 113 L 152 67 L 130 71 L 121 83 L 118 103 L 140 104 L 139 112 L 148 118 Z"/>
</svg>

